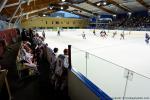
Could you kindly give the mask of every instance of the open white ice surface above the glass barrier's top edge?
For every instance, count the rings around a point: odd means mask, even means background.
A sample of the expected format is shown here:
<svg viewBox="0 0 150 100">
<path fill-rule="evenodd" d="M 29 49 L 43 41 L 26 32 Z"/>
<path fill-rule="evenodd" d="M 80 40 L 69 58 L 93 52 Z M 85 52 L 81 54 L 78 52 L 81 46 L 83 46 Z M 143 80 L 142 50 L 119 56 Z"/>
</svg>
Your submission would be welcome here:
<svg viewBox="0 0 150 100">
<path fill-rule="evenodd" d="M 83 31 L 86 34 L 86 39 L 82 38 Z M 51 48 L 58 47 L 60 49 L 59 53 L 62 53 L 67 45 L 72 45 L 75 48 L 150 77 L 150 45 L 145 43 L 144 32 L 131 32 L 129 35 L 127 31 L 124 40 L 120 40 L 122 31 L 118 31 L 115 38 L 112 38 L 113 31 L 106 30 L 106 32 L 108 37 L 102 38 L 99 35 L 100 30 L 96 31 L 96 36 L 93 35 L 93 30 L 64 30 L 61 31 L 60 36 L 57 36 L 57 31 L 45 30 L 45 42 Z M 41 32 L 39 33 L 41 34 Z"/>
</svg>

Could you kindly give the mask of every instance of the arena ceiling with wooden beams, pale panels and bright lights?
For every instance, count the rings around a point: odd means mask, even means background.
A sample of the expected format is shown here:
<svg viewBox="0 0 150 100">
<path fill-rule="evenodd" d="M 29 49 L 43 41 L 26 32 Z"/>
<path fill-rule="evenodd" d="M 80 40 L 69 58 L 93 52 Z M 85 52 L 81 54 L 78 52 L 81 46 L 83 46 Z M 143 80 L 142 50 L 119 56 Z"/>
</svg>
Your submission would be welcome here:
<svg viewBox="0 0 150 100">
<path fill-rule="evenodd" d="M 105 3 L 104 3 L 105 2 Z M 54 9 L 53 9 L 53 8 Z M 62 8 L 63 7 L 63 8 Z M 19 17 L 31 18 L 64 10 L 90 18 L 150 10 L 150 0 L 1 0 L 0 15 L 13 21 Z"/>
</svg>

